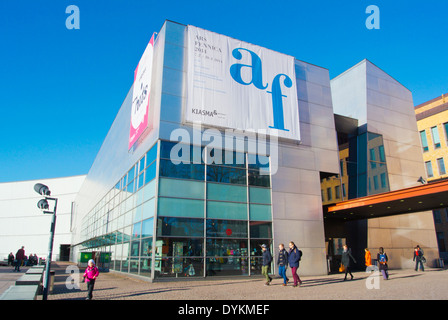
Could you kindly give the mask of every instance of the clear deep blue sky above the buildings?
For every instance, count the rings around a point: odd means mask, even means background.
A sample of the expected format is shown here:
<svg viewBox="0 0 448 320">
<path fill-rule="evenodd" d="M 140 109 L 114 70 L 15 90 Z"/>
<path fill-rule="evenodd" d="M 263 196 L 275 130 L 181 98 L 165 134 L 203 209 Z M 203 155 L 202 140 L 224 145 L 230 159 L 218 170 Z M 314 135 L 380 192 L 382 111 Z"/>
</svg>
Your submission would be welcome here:
<svg viewBox="0 0 448 320">
<path fill-rule="evenodd" d="M 380 30 L 368 30 L 369 5 Z M 65 26 L 67 6 L 80 29 Z M 0 182 L 88 173 L 166 19 L 295 56 L 333 78 L 367 58 L 412 91 L 448 92 L 448 1 L 1 0 Z"/>
</svg>

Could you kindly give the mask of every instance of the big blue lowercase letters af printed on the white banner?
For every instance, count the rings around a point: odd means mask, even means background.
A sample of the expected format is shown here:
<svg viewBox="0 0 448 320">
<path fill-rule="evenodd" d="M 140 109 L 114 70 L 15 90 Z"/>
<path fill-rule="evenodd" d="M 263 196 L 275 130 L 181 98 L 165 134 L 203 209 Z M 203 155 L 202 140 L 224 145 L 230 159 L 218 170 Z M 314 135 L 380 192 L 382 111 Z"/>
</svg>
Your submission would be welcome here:
<svg viewBox="0 0 448 320">
<path fill-rule="evenodd" d="M 241 63 L 235 63 L 232 66 L 230 66 L 230 75 L 232 76 L 233 80 L 242 85 L 248 86 L 253 84 L 257 89 L 266 90 L 269 84 L 268 83 L 264 84 L 263 82 L 262 62 L 260 57 L 255 52 L 245 48 L 233 49 L 232 56 L 237 60 L 241 60 L 243 58 L 243 54 L 241 53 L 242 51 L 247 51 L 250 54 L 252 64 L 247 65 Z M 252 79 L 250 82 L 245 82 L 243 80 L 241 76 L 241 70 L 243 68 L 251 69 Z M 285 96 L 282 93 L 281 88 L 282 77 L 283 77 L 283 85 L 287 88 L 292 87 L 292 80 L 286 74 L 279 73 L 272 80 L 271 91 L 266 91 L 267 93 L 270 93 L 272 95 L 272 111 L 274 116 L 274 125 L 269 126 L 269 128 L 289 131 L 289 129 L 285 128 L 285 122 L 283 118 L 283 97 L 286 98 L 287 96 Z"/>
</svg>

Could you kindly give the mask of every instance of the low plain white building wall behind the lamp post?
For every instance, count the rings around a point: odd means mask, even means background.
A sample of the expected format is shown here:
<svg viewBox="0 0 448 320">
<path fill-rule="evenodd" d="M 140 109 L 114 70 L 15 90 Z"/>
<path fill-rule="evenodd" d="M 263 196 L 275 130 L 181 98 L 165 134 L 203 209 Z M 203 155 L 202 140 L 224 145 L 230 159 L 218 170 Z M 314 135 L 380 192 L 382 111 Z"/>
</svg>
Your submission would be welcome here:
<svg viewBox="0 0 448 320">
<path fill-rule="evenodd" d="M 52 260 L 59 260 L 60 245 L 71 244 L 72 202 L 84 180 L 85 175 L 0 183 L 0 259 L 10 252 L 15 255 L 22 246 L 26 256 L 47 257 L 52 217 L 37 207 L 43 197 L 34 191 L 34 185 L 42 183 L 58 199 Z M 53 202 L 49 204 L 52 210 Z"/>
</svg>

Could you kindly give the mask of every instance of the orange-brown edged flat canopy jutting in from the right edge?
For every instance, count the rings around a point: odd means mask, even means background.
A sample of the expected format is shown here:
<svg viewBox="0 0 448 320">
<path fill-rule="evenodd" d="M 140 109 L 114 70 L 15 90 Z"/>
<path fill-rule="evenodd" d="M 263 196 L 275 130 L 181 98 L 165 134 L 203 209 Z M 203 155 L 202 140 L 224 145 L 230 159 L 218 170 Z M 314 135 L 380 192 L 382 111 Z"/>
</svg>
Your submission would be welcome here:
<svg viewBox="0 0 448 320">
<path fill-rule="evenodd" d="M 448 180 L 339 202 L 326 218 L 358 220 L 448 207 Z"/>
</svg>

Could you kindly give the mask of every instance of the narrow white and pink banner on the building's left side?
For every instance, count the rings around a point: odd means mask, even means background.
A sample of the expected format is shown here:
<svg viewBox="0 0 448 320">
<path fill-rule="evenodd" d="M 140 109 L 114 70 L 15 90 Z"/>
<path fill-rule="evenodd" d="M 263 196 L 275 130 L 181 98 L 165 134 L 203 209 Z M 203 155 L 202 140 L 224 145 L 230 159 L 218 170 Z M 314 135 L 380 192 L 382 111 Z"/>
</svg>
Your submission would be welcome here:
<svg viewBox="0 0 448 320">
<path fill-rule="evenodd" d="M 151 130 L 151 122 L 149 121 L 149 97 L 154 52 L 154 35 L 155 34 L 152 35 L 151 40 L 134 71 L 129 150 L 145 130 Z"/>
</svg>

